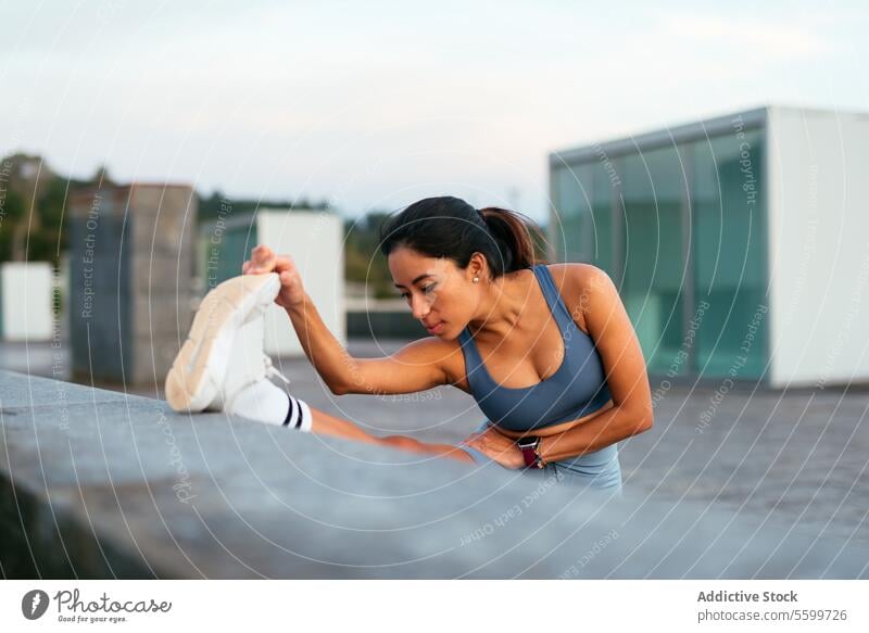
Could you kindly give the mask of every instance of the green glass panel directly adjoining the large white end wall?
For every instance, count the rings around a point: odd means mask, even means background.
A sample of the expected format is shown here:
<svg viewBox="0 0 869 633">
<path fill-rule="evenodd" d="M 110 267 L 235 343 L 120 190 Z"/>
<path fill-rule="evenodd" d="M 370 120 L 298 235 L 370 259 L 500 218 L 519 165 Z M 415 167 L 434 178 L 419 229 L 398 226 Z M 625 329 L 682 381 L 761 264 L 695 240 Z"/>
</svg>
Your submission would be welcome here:
<svg viewBox="0 0 869 633">
<path fill-rule="evenodd" d="M 695 371 L 758 379 L 768 321 L 763 135 L 734 129 L 694 143 L 693 154 Z"/>
</svg>

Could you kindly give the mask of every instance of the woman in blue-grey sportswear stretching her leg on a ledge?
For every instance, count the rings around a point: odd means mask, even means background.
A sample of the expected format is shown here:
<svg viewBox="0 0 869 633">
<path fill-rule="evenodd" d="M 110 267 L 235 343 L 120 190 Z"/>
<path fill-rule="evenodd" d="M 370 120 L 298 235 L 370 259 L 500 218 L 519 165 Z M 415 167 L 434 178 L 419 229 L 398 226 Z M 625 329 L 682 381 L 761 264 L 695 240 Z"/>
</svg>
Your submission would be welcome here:
<svg viewBox="0 0 869 633">
<path fill-rule="evenodd" d="M 617 442 L 652 427 L 640 344 L 609 277 L 589 264 L 538 263 L 539 229 L 502 208 L 420 200 L 381 227 L 395 287 L 430 337 L 385 358 L 353 358 L 326 328 L 287 256 L 253 250 L 243 275 L 203 300 L 166 378 L 179 412 L 223 409 L 304 432 L 441 455 L 547 468 L 618 488 Z M 284 307 L 332 393 L 399 394 L 450 384 L 488 419 L 459 446 L 376 436 L 311 408 L 268 380 L 263 314 Z M 288 382 L 288 381 L 287 381 Z"/>
</svg>

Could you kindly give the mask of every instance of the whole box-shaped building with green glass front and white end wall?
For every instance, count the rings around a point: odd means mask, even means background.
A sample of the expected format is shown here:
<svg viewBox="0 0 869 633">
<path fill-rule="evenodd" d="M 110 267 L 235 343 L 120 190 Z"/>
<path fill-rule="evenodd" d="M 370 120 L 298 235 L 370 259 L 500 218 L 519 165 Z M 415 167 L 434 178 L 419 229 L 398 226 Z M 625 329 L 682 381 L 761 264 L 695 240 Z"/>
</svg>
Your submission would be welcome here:
<svg viewBox="0 0 869 633">
<path fill-rule="evenodd" d="M 555 257 L 619 288 L 651 375 L 869 381 L 869 115 L 770 106 L 550 155 Z"/>
</svg>

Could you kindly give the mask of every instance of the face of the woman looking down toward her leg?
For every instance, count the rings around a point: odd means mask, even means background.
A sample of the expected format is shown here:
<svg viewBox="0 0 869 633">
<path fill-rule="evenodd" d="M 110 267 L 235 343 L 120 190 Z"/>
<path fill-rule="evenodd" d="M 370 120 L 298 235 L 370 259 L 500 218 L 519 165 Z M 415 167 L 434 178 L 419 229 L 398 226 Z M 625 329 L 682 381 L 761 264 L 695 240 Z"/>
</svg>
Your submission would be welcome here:
<svg viewBox="0 0 869 633">
<path fill-rule="evenodd" d="M 389 270 L 415 319 L 432 337 L 458 337 L 479 305 L 478 286 L 473 282 L 479 268 L 477 255 L 464 270 L 446 257 L 427 257 L 406 246 L 389 254 Z M 479 271 L 476 273 L 481 278 Z"/>
</svg>

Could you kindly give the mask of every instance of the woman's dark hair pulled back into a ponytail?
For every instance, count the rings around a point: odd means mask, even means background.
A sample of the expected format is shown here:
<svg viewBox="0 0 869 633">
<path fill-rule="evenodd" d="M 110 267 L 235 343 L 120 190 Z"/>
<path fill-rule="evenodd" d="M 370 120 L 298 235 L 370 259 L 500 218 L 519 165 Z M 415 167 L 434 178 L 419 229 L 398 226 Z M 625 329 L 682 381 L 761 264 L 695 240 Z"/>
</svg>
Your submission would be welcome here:
<svg viewBox="0 0 869 633">
<path fill-rule="evenodd" d="M 534 238 L 538 242 L 536 243 Z M 474 253 L 481 253 L 492 278 L 545 263 L 538 255 L 545 244 L 540 228 L 527 216 L 498 206 L 477 211 L 458 198 L 426 198 L 380 227 L 380 252 L 406 246 L 428 257 L 449 257 L 467 268 Z"/>
</svg>

